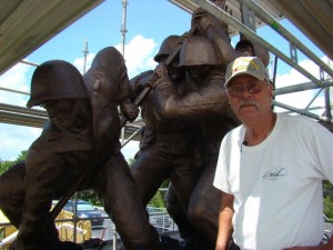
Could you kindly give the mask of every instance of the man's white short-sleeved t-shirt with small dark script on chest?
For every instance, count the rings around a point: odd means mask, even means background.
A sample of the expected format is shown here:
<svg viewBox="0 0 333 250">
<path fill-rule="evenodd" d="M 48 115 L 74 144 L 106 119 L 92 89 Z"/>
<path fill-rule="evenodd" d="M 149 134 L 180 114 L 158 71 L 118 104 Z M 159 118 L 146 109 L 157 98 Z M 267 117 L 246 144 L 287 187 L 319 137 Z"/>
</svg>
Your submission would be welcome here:
<svg viewBox="0 0 333 250">
<path fill-rule="evenodd" d="M 316 246 L 323 237 L 322 179 L 333 182 L 333 134 L 306 117 L 278 113 L 271 134 L 243 146 L 243 126 L 223 139 L 214 186 L 234 196 L 241 249 Z"/>
</svg>

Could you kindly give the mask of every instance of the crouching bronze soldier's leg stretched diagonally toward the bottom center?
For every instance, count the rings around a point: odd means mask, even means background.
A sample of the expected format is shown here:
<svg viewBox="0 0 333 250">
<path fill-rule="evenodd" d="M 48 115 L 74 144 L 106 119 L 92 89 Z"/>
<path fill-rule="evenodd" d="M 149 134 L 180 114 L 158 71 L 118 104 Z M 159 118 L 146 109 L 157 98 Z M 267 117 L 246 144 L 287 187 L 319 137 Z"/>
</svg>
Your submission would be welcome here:
<svg viewBox="0 0 333 250">
<path fill-rule="evenodd" d="M 97 176 L 95 188 L 104 209 L 115 224 L 128 250 L 159 249 L 159 238 L 149 224 L 130 168 L 121 152 L 112 157 Z"/>
</svg>

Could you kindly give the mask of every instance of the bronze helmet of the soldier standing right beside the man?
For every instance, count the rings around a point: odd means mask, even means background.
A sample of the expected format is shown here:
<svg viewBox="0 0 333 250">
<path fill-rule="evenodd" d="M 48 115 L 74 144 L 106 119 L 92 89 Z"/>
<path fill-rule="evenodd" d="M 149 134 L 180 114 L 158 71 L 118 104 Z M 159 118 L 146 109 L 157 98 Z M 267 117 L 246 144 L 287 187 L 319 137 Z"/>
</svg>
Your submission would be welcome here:
<svg viewBox="0 0 333 250">
<path fill-rule="evenodd" d="M 179 67 L 218 66 L 218 52 L 212 42 L 203 36 L 189 37 L 181 50 Z"/>
</svg>

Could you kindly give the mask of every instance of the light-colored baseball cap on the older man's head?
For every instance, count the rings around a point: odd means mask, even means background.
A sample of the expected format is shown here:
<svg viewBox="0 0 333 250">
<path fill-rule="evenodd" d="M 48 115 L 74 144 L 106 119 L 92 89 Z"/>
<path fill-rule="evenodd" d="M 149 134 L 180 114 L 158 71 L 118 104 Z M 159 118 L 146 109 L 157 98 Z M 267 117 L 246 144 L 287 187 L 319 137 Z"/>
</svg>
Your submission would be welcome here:
<svg viewBox="0 0 333 250">
<path fill-rule="evenodd" d="M 224 86 L 228 87 L 240 74 L 250 74 L 259 80 L 270 79 L 266 68 L 256 57 L 240 57 L 232 61 L 226 68 Z"/>
</svg>

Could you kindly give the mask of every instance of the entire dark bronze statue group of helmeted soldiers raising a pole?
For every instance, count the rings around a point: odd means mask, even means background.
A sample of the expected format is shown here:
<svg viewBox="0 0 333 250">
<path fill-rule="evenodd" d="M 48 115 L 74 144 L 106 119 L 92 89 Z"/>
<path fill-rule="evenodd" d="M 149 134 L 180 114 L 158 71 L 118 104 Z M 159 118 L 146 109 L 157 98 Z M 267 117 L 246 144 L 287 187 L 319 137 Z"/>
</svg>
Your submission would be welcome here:
<svg viewBox="0 0 333 250">
<path fill-rule="evenodd" d="M 139 110 L 121 54 L 112 47 L 101 50 L 83 78 L 60 60 L 36 69 L 28 107 L 44 107 L 50 121 L 27 160 L 0 177 L 0 208 L 19 228 L 11 250 L 81 249 L 59 241 L 49 211 L 82 177 L 78 190 L 98 191 L 127 249 L 161 248 L 144 207 L 165 179 L 168 210 L 186 247 L 200 249 L 200 236 L 213 248 L 223 196 L 212 186 L 219 147 L 239 124 L 223 87 L 225 67 L 239 54 L 266 59 L 268 52 L 243 36 L 233 49 L 225 23 L 201 9 L 191 26 L 182 38 L 165 39 L 154 71 L 130 81 L 137 94 L 153 89 L 140 102 L 145 129 L 131 171 L 120 152 L 118 107 L 129 121 Z M 180 43 L 179 58 L 169 63 Z"/>
</svg>

